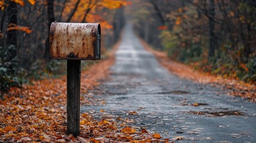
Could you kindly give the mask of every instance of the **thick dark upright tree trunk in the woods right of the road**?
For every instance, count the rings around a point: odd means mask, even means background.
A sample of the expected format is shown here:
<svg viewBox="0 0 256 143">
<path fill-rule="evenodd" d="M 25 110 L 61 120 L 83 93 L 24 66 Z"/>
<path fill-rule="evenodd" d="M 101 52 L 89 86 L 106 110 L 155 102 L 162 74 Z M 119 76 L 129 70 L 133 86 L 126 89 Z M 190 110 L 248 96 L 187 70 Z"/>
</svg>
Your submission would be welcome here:
<svg viewBox="0 0 256 143">
<path fill-rule="evenodd" d="M 214 0 L 209 1 L 209 58 L 214 57 L 215 52 L 215 5 Z"/>
</svg>

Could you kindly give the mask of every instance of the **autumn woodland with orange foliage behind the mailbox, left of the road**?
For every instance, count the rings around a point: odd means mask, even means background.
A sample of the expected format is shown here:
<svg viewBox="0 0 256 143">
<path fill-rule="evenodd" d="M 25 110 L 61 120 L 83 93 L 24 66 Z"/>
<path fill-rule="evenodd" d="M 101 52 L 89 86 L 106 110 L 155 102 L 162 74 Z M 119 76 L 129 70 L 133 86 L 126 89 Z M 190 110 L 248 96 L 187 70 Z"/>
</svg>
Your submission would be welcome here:
<svg viewBox="0 0 256 143">
<path fill-rule="evenodd" d="M 122 0 L 1 0 L 0 95 L 27 79 L 65 73 L 66 60 L 49 59 L 52 22 L 100 23 L 104 55 L 118 40 L 124 6 L 130 4 Z"/>
</svg>

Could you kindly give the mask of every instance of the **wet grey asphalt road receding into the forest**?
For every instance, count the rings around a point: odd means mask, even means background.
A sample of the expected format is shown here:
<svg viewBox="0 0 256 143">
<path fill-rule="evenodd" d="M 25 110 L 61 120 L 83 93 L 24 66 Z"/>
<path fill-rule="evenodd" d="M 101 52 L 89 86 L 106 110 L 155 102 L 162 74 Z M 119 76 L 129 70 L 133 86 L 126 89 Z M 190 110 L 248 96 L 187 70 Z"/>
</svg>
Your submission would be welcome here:
<svg viewBox="0 0 256 143">
<path fill-rule="evenodd" d="M 175 142 L 256 142 L 255 103 L 170 73 L 143 48 L 130 24 L 116 51 L 110 79 L 91 95 L 99 91 L 101 96 L 95 98 L 106 104 L 82 106 L 82 111 L 97 114 L 104 109 L 134 119 L 135 126 L 164 138 L 184 136 Z M 128 115 L 129 111 L 139 115 Z"/>
</svg>

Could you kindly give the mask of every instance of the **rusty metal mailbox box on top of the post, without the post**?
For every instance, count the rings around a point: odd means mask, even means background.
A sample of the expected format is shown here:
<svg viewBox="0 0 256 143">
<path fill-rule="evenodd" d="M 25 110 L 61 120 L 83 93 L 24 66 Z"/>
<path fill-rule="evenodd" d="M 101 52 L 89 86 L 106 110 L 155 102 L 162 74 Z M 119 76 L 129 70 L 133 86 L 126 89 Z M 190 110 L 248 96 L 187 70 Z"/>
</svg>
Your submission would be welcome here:
<svg viewBox="0 0 256 143">
<path fill-rule="evenodd" d="M 50 58 L 100 60 L 100 24 L 51 23 Z"/>
</svg>

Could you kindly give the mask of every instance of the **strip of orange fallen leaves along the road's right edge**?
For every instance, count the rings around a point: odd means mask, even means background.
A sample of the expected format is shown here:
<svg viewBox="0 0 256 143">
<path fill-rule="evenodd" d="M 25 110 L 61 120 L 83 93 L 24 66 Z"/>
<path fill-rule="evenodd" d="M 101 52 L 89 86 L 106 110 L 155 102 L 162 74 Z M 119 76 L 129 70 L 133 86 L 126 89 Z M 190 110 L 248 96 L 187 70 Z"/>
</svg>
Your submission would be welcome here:
<svg viewBox="0 0 256 143">
<path fill-rule="evenodd" d="M 158 59 L 159 63 L 166 67 L 169 71 L 177 74 L 185 79 L 190 79 L 195 82 L 211 84 L 223 89 L 227 95 L 239 96 L 248 99 L 249 101 L 256 101 L 256 86 L 245 83 L 235 79 L 224 79 L 221 76 L 214 76 L 210 73 L 203 73 L 193 69 L 193 67 L 170 60 L 165 52 L 155 51 L 147 45 L 146 42 L 140 40 L 147 51 L 152 52 Z"/>
</svg>

